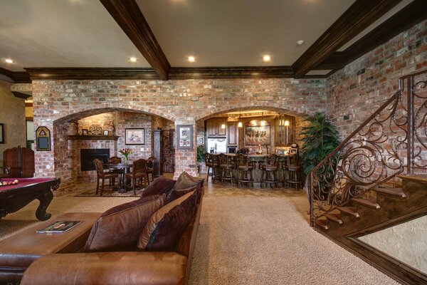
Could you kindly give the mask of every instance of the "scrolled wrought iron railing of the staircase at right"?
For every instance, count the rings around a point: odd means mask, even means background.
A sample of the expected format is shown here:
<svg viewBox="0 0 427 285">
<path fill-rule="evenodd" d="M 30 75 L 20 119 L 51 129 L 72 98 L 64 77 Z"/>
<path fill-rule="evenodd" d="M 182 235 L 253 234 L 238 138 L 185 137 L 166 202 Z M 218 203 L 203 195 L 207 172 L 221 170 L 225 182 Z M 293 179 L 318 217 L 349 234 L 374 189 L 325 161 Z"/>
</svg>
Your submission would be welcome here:
<svg viewBox="0 0 427 285">
<path fill-rule="evenodd" d="M 399 78 L 399 89 L 307 175 L 310 221 L 399 182 L 396 175 L 427 172 L 427 71 Z"/>
</svg>

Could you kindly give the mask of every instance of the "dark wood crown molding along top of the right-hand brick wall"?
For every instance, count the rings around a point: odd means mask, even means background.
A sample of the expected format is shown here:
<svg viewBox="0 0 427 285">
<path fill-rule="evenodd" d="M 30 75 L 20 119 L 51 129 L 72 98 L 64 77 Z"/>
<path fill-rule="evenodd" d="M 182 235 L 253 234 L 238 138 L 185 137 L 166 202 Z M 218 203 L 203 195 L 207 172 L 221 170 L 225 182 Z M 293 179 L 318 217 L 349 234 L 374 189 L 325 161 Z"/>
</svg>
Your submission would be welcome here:
<svg viewBox="0 0 427 285">
<path fill-rule="evenodd" d="M 427 1 L 414 0 L 344 51 L 336 51 L 314 70 L 341 69 L 399 33 L 427 19 Z M 421 43 L 422 44 L 422 43 Z M 328 75 L 329 77 L 329 75 Z"/>
</svg>

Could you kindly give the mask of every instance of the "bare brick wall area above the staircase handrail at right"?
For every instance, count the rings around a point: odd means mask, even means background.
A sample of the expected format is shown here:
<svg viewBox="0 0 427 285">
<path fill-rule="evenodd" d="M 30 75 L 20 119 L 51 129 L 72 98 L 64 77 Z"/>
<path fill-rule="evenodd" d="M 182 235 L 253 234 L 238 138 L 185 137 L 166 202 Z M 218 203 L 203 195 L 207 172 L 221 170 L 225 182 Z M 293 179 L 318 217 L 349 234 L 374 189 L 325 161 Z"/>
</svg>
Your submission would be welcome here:
<svg viewBox="0 0 427 285">
<path fill-rule="evenodd" d="M 390 98 L 399 88 L 399 77 L 426 68 L 423 21 L 327 78 L 327 114 L 339 136 L 346 138 Z"/>
</svg>

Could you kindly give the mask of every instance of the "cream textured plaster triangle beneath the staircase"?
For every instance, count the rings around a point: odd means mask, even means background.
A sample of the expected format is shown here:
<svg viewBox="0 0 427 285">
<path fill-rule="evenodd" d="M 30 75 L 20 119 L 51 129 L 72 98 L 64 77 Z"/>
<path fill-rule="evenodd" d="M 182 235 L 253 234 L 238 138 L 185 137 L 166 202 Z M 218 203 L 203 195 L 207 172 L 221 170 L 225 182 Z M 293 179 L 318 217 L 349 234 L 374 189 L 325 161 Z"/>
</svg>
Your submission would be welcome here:
<svg viewBox="0 0 427 285">
<path fill-rule="evenodd" d="M 427 274 L 426 224 L 424 216 L 359 239 Z"/>
</svg>

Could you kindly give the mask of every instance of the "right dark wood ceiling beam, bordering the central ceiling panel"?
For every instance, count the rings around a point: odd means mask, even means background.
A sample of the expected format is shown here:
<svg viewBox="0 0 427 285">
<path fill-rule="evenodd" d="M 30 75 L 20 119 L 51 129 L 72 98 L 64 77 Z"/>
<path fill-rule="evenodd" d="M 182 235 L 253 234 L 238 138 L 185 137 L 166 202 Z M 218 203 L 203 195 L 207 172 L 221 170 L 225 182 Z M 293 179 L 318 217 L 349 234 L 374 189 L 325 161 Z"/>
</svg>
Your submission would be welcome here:
<svg viewBox="0 0 427 285">
<path fill-rule="evenodd" d="M 390 9 L 399 4 L 398 0 L 357 0 L 337 21 L 317 38 L 317 41 L 292 64 L 295 78 L 318 66 L 338 48 L 357 36 Z"/>
</svg>

